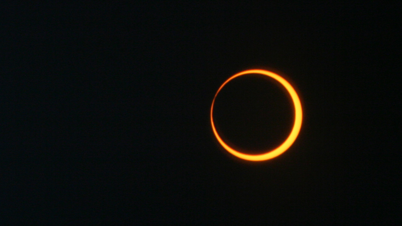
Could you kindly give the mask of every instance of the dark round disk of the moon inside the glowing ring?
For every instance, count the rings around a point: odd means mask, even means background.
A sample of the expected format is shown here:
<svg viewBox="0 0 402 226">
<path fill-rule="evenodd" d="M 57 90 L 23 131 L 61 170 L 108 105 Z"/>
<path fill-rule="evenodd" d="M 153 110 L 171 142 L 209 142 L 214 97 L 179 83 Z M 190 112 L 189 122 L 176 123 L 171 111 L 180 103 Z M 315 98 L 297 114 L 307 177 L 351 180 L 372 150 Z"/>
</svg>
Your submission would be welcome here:
<svg viewBox="0 0 402 226">
<path fill-rule="evenodd" d="M 222 139 L 244 154 L 263 154 L 281 145 L 294 123 L 289 93 L 275 79 L 246 74 L 226 84 L 215 99 L 213 117 Z"/>
</svg>

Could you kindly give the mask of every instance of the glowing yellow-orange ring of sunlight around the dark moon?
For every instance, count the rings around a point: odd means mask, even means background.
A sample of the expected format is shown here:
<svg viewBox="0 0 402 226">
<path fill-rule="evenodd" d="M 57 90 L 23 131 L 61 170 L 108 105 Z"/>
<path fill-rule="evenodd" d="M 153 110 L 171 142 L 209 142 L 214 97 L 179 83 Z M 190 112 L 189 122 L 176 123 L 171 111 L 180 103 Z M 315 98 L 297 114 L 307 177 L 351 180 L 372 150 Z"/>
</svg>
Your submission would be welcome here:
<svg viewBox="0 0 402 226">
<path fill-rule="evenodd" d="M 215 103 L 216 96 L 218 95 L 219 91 L 226 85 L 226 83 L 228 83 L 230 80 L 232 80 L 238 76 L 241 76 L 244 74 L 253 74 L 253 73 L 263 74 L 263 75 L 269 76 L 271 78 L 274 78 L 275 80 L 280 82 L 283 86 L 285 86 L 286 90 L 289 92 L 289 94 L 293 100 L 293 104 L 295 105 L 295 123 L 293 125 L 292 131 L 289 134 L 289 137 L 285 140 L 285 142 L 283 142 L 283 144 L 281 144 L 279 147 L 275 148 L 274 150 L 268 151 L 264 154 L 257 154 L 257 155 L 244 154 L 244 153 L 238 152 L 238 151 L 234 150 L 233 148 L 229 147 L 217 133 L 217 131 L 215 129 L 215 125 L 213 123 L 213 117 L 212 117 L 213 104 Z M 266 70 L 258 70 L 258 69 L 246 70 L 243 72 L 239 72 L 239 73 L 235 74 L 234 76 L 230 77 L 228 80 L 226 80 L 224 82 L 224 84 L 222 84 L 221 87 L 219 87 L 218 91 L 215 94 L 215 97 L 213 97 L 213 101 L 212 101 L 212 105 L 211 105 L 211 125 L 212 125 L 212 130 L 213 130 L 213 133 L 215 134 L 216 139 L 228 152 L 230 152 L 234 156 L 237 156 L 237 157 L 245 159 L 245 160 L 250 160 L 250 161 L 267 160 L 270 158 L 274 158 L 274 157 L 282 154 L 283 152 L 285 152 L 293 144 L 293 142 L 297 138 L 297 135 L 299 134 L 299 131 L 301 128 L 301 119 L 302 119 L 301 103 L 300 103 L 299 96 L 297 96 L 295 89 L 289 84 L 289 82 L 287 82 L 281 76 L 279 76 L 273 72 L 266 71 Z"/>
</svg>

